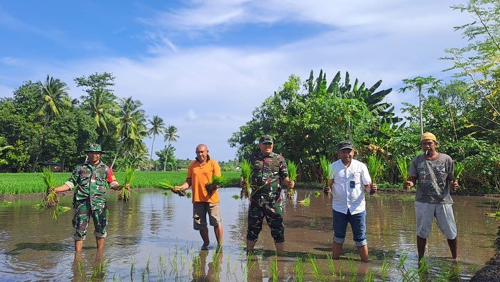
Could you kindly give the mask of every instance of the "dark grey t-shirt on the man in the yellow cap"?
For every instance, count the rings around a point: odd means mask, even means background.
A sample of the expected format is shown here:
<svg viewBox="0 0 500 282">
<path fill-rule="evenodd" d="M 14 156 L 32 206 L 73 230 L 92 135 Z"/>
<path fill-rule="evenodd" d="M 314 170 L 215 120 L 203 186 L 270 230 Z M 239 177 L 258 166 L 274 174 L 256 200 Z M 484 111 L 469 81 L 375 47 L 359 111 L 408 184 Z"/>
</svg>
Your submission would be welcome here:
<svg viewBox="0 0 500 282">
<path fill-rule="evenodd" d="M 452 204 L 449 181 L 453 179 L 454 169 L 452 157 L 443 153 L 433 160 L 427 159 L 424 154 L 414 157 L 409 174 L 418 179 L 415 200 L 431 204 Z"/>
</svg>

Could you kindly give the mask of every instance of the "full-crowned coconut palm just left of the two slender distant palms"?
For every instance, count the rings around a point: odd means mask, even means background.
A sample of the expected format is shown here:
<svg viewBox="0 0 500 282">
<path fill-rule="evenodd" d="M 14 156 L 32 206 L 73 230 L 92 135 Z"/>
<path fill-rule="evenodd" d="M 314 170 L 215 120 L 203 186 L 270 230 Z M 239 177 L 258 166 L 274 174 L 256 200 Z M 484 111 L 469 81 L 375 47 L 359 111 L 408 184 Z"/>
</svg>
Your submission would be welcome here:
<svg viewBox="0 0 500 282">
<path fill-rule="evenodd" d="M 143 103 L 139 100 L 132 100 L 132 97 L 122 98 L 118 105 L 120 112 L 118 116 L 118 134 L 120 136 L 120 146 L 116 150 L 111 168 L 113 168 L 120 148 L 125 148 L 125 157 L 131 150 L 140 150 L 143 148 L 143 137 L 148 136 L 146 116 L 141 106 Z"/>
</svg>

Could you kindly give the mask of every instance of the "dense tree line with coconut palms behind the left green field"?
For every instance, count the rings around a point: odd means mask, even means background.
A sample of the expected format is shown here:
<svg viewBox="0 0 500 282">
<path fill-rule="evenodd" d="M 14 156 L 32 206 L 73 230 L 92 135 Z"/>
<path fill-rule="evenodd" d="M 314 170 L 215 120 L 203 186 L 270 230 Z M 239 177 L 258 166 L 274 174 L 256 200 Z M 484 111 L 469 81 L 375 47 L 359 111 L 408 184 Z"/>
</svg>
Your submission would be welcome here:
<svg viewBox="0 0 500 282">
<path fill-rule="evenodd" d="M 69 87 L 47 76 L 44 82 L 27 81 L 15 89 L 12 98 L 0 98 L 0 169 L 35 172 L 44 161 L 74 167 L 84 160 L 83 150 L 100 143 L 107 164 L 114 168 L 177 168 L 177 127 L 166 126 L 159 116 L 147 118 L 140 100 L 118 98 L 111 87 L 111 73 L 93 73 L 75 78 L 84 90 L 71 98 Z M 168 146 L 157 151 L 152 161 L 143 139 L 163 136 Z"/>
</svg>

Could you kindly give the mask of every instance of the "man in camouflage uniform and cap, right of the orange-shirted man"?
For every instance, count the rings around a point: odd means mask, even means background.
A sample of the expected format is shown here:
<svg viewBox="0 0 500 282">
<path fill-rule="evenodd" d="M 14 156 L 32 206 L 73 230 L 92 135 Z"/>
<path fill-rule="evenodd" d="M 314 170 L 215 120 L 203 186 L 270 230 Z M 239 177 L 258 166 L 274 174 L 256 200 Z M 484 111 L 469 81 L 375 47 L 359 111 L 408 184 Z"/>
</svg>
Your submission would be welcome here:
<svg viewBox="0 0 500 282">
<path fill-rule="evenodd" d="M 294 188 L 295 182 L 289 181 L 285 158 L 273 152 L 273 147 L 273 137 L 262 135 L 259 139 L 260 151 L 254 152 L 249 157 L 252 166 L 252 194 L 248 213 L 247 253 L 253 251 L 256 245 L 264 218 L 271 229 L 276 252 L 283 254 L 285 248 L 281 185 Z M 242 181 L 242 188 L 244 185 Z"/>
</svg>

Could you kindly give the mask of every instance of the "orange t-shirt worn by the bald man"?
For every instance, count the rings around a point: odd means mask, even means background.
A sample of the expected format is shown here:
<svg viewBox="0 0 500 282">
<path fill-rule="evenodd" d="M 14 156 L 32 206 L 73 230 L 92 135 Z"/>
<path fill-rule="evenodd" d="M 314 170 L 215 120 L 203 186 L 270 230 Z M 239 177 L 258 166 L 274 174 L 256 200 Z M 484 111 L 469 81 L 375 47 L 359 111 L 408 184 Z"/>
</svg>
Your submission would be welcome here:
<svg viewBox="0 0 500 282">
<path fill-rule="evenodd" d="M 206 192 L 205 184 L 212 181 L 212 175 L 220 176 L 220 166 L 217 161 L 209 159 L 206 164 L 200 166 L 198 161 L 192 161 L 188 168 L 188 178 L 191 179 L 194 202 L 219 202 L 219 191 L 215 190 L 212 195 Z"/>
</svg>

